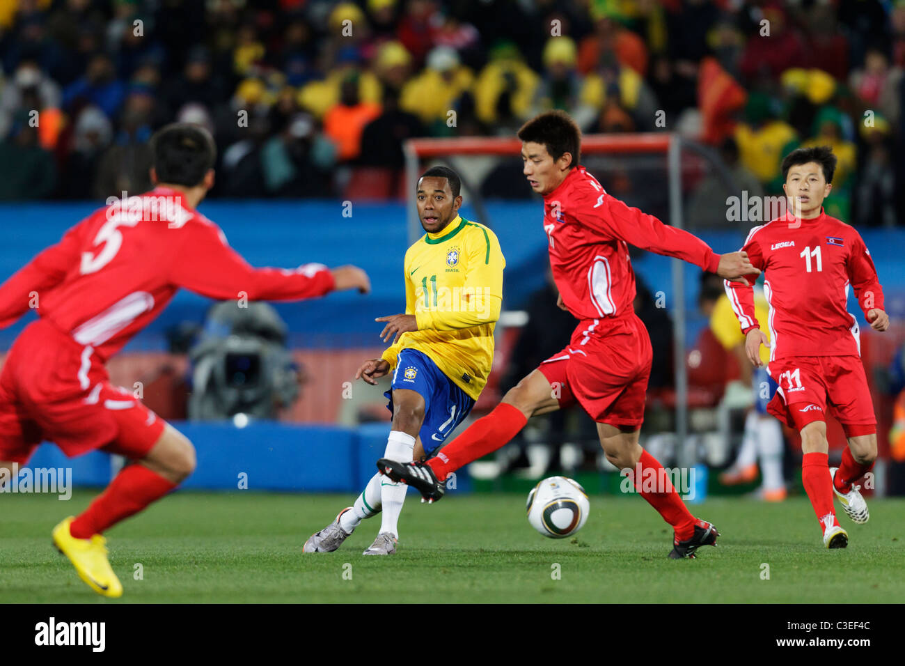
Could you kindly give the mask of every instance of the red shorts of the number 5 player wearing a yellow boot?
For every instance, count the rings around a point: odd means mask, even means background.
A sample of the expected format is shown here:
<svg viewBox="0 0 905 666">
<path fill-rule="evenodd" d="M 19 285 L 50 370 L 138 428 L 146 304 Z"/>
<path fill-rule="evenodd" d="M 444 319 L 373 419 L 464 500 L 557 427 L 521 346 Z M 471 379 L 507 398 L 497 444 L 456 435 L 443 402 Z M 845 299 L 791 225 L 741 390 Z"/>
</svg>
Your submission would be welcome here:
<svg viewBox="0 0 905 666">
<path fill-rule="evenodd" d="M 110 384 L 90 347 L 51 323 L 30 323 L 0 372 L 0 460 L 24 465 L 43 440 L 68 457 L 103 449 L 144 458 L 165 423 Z"/>
</svg>

